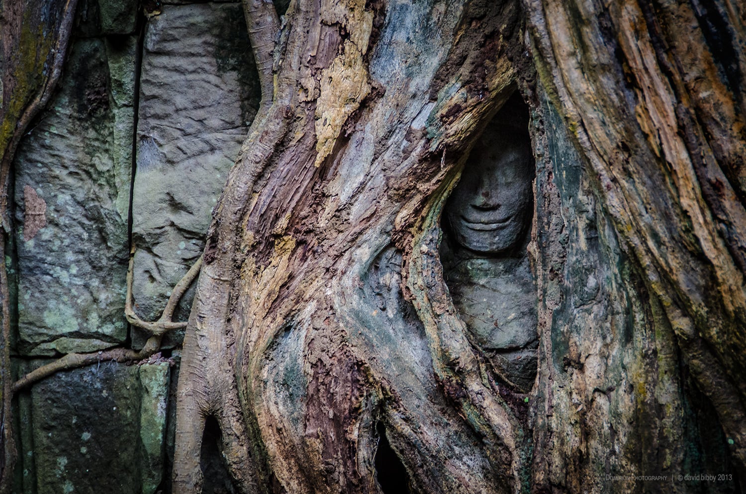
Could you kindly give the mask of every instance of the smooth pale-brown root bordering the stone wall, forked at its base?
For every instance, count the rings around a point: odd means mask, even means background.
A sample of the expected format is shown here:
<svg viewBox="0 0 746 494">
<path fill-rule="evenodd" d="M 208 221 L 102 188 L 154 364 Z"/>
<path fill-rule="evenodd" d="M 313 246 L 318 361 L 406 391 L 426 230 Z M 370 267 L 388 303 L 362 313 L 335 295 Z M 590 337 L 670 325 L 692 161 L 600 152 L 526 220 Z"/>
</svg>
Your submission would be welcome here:
<svg viewBox="0 0 746 494">
<path fill-rule="evenodd" d="M 222 440 L 225 467 L 239 493 L 262 493 L 269 484 L 262 482 L 250 451 L 250 436 L 245 428 L 233 373 L 236 341 L 226 321 L 230 313 L 233 253 L 218 256 L 219 248 L 239 245 L 236 228 L 244 211 L 251 187 L 263 171 L 275 145 L 287 129 L 278 110 L 275 94 L 275 42 L 280 34 L 280 19 L 274 4 L 266 0 L 242 0 L 251 50 L 256 61 L 262 92 L 257 116 L 248 138 L 236 159 L 223 188 L 219 207 L 213 211 L 213 224 L 207 232 L 204 251 L 204 276 L 198 282 L 189 327 L 184 336 L 184 360 L 181 362 L 176 403 L 176 448 L 173 463 L 175 493 L 202 491 L 201 445 L 208 417 L 216 419 Z M 272 124 L 268 124 L 272 122 Z M 267 129 L 273 131 L 268 131 Z M 262 133 L 260 134 L 259 131 Z M 247 143 L 251 142 L 251 146 Z M 273 145 L 269 143 L 273 142 Z M 223 225 L 221 229 L 219 226 Z"/>
</svg>

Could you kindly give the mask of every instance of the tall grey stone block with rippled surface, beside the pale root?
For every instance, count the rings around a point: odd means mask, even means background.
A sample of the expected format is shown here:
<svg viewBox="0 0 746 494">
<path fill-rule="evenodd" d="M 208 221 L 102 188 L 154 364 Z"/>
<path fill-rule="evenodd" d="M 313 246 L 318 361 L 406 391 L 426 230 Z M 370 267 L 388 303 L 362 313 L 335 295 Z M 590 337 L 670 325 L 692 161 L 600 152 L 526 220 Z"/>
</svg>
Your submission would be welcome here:
<svg viewBox="0 0 746 494">
<path fill-rule="evenodd" d="M 201 253 L 258 102 L 240 4 L 163 5 L 148 20 L 132 206 L 134 298 L 143 319 L 160 316 Z M 191 299 L 189 292 L 177 317 Z M 134 332 L 133 341 L 144 338 Z"/>
</svg>

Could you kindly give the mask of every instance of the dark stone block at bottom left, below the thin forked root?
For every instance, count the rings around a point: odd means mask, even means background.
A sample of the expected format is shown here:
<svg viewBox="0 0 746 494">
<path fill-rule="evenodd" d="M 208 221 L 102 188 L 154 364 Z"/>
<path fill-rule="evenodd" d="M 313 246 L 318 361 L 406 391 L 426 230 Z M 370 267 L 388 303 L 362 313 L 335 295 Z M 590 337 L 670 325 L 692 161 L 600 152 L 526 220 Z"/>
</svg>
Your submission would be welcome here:
<svg viewBox="0 0 746 494">
<path fill-rule="evenodd" d="M 40 364 L 22 362 L 19 370 Z M 169 372 L 163 362 L 101 362 L 57 373 L 20 393 L 16 490 L 155 493 L 162 480 Z"/>
</svg>

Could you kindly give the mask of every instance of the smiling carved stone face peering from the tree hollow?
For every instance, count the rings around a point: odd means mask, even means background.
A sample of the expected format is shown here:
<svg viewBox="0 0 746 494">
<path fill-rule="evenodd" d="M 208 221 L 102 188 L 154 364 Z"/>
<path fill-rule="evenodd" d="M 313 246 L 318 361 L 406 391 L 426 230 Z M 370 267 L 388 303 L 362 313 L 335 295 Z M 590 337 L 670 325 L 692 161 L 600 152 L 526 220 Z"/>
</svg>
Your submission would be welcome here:
<svg viewBox="0 0 746 494">
<path fill-rule="evenodd" d="M 488 127 L 445 206 L 451 235 L 477 253 L 506 253 L 524 238 L 533 211 L 528 136 Z"/>
</svg>

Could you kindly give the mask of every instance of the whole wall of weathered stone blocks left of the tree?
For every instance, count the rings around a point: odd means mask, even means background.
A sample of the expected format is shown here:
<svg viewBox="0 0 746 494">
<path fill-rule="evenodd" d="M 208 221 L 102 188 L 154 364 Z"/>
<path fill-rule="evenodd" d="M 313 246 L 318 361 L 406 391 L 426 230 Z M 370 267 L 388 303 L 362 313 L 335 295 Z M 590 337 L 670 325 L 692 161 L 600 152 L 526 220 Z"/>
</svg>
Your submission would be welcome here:
<svg viewBox="0 0 746 494">
<path fill-rule="evenodd" d="M 16 376 L 69 352 L 142 346 L 124 315 L 131 243 L 135 310 L 154 320 L 201 253 L 258 107 L 240 4 L 179 0 L 145 15 L 139 3 L 81 0 L 57 93 L 16 154 Z M 14 492 L 170 492 L 182 336 L 163 358 L 102 361 L 19 393 Z"/>
</svg>

